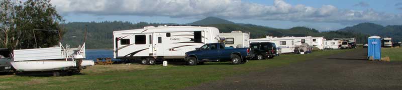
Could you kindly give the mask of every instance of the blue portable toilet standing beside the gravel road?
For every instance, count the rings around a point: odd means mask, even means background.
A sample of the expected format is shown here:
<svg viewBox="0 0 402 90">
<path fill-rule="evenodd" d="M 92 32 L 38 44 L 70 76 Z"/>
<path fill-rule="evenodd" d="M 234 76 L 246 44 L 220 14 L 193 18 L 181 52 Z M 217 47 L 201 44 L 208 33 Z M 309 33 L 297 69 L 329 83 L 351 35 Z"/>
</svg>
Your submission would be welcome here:
<svg viewBox="0 0 402 90">
<path fill-rule="evenodd" d="M 380 60 L 381 59 L 381 37 L 380 36 L 370 36 L 370 37 L 368 37 L 367 44 L 368 44 L 367 58 L 372 56 L 373 59 Z"/>
</svg>

